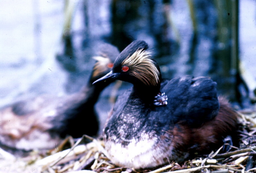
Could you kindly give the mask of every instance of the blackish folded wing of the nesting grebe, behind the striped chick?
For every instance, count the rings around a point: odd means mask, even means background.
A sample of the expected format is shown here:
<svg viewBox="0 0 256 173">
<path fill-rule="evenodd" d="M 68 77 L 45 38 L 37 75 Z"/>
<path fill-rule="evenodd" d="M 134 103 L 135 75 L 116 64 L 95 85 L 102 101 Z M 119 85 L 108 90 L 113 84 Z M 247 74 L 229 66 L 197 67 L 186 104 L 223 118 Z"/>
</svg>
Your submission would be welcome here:
<svg viewBox="0 0 256 173">
<path fill-rule="evenodd" d="M 207 77 L 174 78 L 161 87 L 168 96 L 173 123 L 198 126 L 218 114 L 217 83 Z"/>
</svg>

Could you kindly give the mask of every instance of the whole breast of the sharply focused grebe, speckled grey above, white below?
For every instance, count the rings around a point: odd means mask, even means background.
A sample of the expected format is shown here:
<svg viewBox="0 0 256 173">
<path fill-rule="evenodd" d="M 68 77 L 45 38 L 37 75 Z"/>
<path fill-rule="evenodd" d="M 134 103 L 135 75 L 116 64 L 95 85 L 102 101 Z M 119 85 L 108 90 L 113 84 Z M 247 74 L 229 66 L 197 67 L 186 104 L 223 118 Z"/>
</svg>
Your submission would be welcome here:
<svg viewBox="0 0 256 173">
<path fill-rule="evenodd" d="M 138 98 L 120 102 L 114 109 L 103 136 L 105 149 L 114 164 L 144 169 L 188 157 L 187 150 L 176 150 L 177 141 L 183 137 L 177 138 L 173 126 L 161 123 L 159 117 L 149 115 L 148 110 L 151 109 Z"/>
</svg>

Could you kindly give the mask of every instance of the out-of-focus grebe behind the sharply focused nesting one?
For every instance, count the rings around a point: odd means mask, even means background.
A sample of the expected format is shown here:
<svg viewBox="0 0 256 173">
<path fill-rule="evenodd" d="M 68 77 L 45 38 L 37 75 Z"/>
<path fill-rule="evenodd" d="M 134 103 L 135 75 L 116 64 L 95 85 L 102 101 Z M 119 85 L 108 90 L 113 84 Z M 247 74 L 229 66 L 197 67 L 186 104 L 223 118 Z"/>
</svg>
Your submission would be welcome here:
<svg viewBox="0 0 256 173">
<path fill-rule="evenodd" d="M 49 149 L 67 135 L 74 138 L 97 135 L 99 121 L 94 105 L 109 83 L 92 85 L 92 82 L 110 71 L 113 59 L 119 54 L 109 44 L 101 45 L 98 50 L 90 79 L 80 92 L 59 97 L 41 95 L 2 108 L 0 145 L 25 150 Z"/>
</svg>

